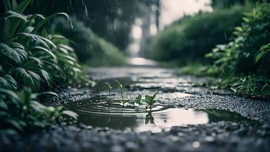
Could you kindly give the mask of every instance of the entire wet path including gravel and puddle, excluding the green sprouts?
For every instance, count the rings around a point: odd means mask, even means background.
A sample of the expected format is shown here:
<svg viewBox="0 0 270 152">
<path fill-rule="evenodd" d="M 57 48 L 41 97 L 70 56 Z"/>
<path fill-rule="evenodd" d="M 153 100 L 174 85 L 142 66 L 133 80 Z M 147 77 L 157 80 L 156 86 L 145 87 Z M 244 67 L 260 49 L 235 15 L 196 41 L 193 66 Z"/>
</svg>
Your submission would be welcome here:
<svg viewBox="0 0 270 152">
<path fill-rule="evenodd" d="M 205 77 L 154 66 L 91 68 L 88 74 L 94 88 L 60 89 L 59 98 L 42 101 L 77 112 L 81 124 L 4 140 L 1 146 L 10 151 L 270 150 L 269 101 L 236 97 L 204 87 Z M 143 101 L 158 91 L 156 103 L 146 109 L 146 103 L 122 105 L 113 79 L 123 84 L 124 99 L 134 101 L 142 93 Z M 110 102 L 104 82 L 112 85 Z"/>
</svg>

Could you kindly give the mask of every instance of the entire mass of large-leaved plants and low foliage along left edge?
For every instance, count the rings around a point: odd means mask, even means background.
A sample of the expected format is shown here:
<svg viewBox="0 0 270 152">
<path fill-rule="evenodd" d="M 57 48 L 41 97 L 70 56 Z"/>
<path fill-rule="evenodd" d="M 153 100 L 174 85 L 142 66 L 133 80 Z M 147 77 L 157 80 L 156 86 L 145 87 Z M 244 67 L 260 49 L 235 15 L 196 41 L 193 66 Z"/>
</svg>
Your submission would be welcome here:
<svg viewBox="0 0 270 152">
<path fill-rule="evenodd" d="M 63 107 L 48 107 L 37 96 L 55 95 L 57 85 L 83 80 L 70 40 L 48 30 L 50 16 L 24 15 L 31 0 L 17 4 L 3 0 L 0 35 L 0 132 L 27 133 L 61 121 L 76 120 L 77 114 Z M 72 24 L 68 24 L 70 27 Z"/>
</svg>

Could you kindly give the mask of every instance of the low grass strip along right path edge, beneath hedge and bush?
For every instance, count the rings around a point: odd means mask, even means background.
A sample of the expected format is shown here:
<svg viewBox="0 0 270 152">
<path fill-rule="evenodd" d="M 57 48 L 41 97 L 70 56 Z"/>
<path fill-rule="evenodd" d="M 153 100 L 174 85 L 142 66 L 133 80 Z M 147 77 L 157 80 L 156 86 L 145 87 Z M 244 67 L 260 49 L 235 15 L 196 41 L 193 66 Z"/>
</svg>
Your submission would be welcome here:
<svg viewBox="0 0 270 152">
<path fill-rule="evenodd" d="M 201 63 L 189 64 L 181 67 L 181 74 L 194 76 L 208 76 L 207 87 L 231 90 L 235 95 L 247 98 L 269 99 L 270 79 L 264 75 L 255 74 L 223 74 L 211 65 Z"/>
</svg>

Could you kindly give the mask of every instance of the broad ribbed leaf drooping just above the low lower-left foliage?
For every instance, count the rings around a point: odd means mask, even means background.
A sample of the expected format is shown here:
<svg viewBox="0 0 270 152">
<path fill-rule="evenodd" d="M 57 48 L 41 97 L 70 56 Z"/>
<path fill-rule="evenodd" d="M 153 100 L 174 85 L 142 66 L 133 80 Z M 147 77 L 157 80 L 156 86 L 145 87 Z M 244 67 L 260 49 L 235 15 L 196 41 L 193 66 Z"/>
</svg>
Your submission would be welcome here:
<svg viewBox="0 0 270 152">
<path fill-rule="evenodd" d="M 15 68 L 16 79 L 23 81 L 24 85 L 30 87 L 34 91 L 38 91 L 40 88 L 40 76 L 30 70 L 26 70 L 21 67 Z"/>
</svg>

